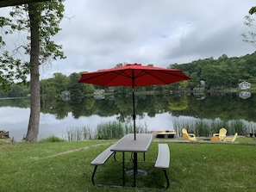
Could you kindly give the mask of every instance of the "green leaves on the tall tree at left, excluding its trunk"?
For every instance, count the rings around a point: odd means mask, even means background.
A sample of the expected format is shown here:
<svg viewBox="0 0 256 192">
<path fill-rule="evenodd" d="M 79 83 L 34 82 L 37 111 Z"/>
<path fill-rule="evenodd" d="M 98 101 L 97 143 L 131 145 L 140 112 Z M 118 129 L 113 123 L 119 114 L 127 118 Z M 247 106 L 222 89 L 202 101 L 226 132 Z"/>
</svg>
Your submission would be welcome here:
<svg viewBox="0 0 256 192">
<path fill-rule="evenodd" d="M 61 51 L 62 46 L 57 45 L 51 37 L 59 32 L 59 22 L 64 17 L 64 0 L 47 1 L 36 3 L 36 9 L 30 9 L 29 14 L 41 15 L 34 18 L 34 22 L 39 23 L 40 28 L 40 64 L 50 64 L 55 59 L 65 59 Z M 58 9 L 57 9 L 58 8 Z M 34 12 L 34 13 L 33 13 Z M 35 15 L 35 14 L 34 14 Z M 9 13 L 9 18 L 0 17 L 0 28 L 3 36 L 0 35 L 0 87 L 8 90 L 10 84 L 27 81 L 30 73 L 29 55 L 31 45 L 29 40 L 30 22 L 28 18 L 28 4 L 13 7 Z M 5 40 L 14 39 L 18 35 L 15 45 L 7 48 Z M 27 36 L 22 39 L 22 36 Z M 27 55 L 27 56 L 26 56 Z"/>
</svg>

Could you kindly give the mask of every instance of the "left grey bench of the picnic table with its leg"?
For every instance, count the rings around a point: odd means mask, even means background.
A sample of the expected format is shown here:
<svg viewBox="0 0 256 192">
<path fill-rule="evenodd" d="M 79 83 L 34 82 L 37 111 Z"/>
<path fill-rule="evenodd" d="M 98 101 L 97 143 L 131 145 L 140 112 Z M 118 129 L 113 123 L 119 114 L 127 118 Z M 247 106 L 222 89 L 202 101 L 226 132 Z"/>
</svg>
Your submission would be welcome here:
<svg viewBox="0 0 256 192">
<path fill-rule="evenodd" d="M 115 145 L 115 144 L 114 144 Z M 111 151 L 111 148 L 114 146 L 109 146 L 109 148 L 107 148 L 105 151 L 103 151 L 102 153 L 100 153 L 97 158 L 94 158 L 93 161 L 91 161 L 91 165 L 94 165 L 94 170 L 93 170 L 93 173 L 92 173 L 92 176 L 91 176 L 91 182 L 93 183 L 93 185 L 96 185 L 95 181 L 94 181 L 94 177 L 95 177 L 95 173 L 96 173 L 96 170 L 97 170 L 97 166 L 99 165 L 103 165 L 106 163 L 106 161 L 109 159 L 109 157 L 116 152 L 112 152 Z M 116 157 L 114 157 L 115 160 L 116 160 Z"/>
</svg>

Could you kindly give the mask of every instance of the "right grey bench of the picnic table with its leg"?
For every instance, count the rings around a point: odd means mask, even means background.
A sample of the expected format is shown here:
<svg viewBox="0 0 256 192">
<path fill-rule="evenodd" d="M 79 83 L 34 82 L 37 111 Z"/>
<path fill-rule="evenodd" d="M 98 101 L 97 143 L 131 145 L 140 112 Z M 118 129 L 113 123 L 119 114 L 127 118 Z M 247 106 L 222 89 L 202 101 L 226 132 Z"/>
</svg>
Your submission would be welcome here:
<svg viewBox="0 0 256 192">
<path fill-rule="evenodd" d="M 169 165 L 170 165 L 169 146 L 167 144 L 159 144 L 158 158 L 154 164 L 154 167 L 157 169 L 164 170 L 165 178 L 166 178 L 166 182 L 167 182 L 165 189 L 168 189 L 169 185 L 170 185 L 169 178 L 168 178 L 167 172 L 166 172 L 166 170 L 169 168 Z"/>
</svg>

